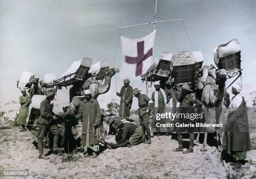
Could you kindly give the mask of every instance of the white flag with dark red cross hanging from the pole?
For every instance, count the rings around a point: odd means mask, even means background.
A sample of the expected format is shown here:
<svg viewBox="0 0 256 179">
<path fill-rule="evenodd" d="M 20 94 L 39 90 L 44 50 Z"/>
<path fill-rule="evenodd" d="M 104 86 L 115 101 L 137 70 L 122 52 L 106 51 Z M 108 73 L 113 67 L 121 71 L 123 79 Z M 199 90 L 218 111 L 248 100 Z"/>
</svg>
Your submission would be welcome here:
<svg viewBox="0 0 256 179">
<path fill-rule="evenodd" d="M 140 78 L 152 64 L 153 45 L 156 30 L 138 39 L 121 36 L 121 47 L 124 62 L 120 70 L 120 77 L 128 79 Z"/>
</svg>

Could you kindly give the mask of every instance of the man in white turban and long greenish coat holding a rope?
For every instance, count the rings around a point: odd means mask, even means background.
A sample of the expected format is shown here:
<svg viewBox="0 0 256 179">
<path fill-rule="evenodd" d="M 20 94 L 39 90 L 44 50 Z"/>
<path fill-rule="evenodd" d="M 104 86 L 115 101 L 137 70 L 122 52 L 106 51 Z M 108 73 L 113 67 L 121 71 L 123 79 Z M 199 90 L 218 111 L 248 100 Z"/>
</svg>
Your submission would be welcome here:
<svg viewBox="0 0 256 179">
<path fill-rule="evenodd" d="M 81 119 L 82 122 L 81 145 L 87 151 L 84 157 L 92 155 L 93 158 L 96 158 L 100 146 L 97 136 L 95 136 L 95 132 L 97 132 L 95 128 L 100 126 L 100 105 L 96 99 L 92 98 L 91 90 L 85 90 L 84 95 L 85 99 L 81 102 L 79 112 L 75 117 Z"/>
</svg>

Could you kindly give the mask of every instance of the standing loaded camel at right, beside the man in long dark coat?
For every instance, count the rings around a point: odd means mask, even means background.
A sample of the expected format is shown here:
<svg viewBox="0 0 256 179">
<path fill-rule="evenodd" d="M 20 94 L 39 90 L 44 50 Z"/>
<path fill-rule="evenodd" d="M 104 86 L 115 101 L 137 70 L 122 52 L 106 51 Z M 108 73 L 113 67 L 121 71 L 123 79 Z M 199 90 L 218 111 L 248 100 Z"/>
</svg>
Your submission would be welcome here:
<svg viewBox="0 0 256 179">
<path fill-rule="evenodd" d="M 199 79 L 198 87 L 195 90 L 195 97 L 200 100 L 205 107 L 215 107 L 216 124 L 219 123 L 220 114 L 222 112 L 223 97 L 225 94 L 225 82 L 227 80 L 227 71 L 220 69 L 215 71 L 214 69 L 208 70 L 207 66 L 202 67 L 203 76 Z M 202 78 L 206 79 L 205 82 L 201 82 Z M 205 114 L 206 120 L 208 118 L 208 111 Z M 217 128 L 215 128 L 215 131 Z M 199 143 L 198 132 L 196 143 Z M 217 132 L 218 137 L 218 151 L 222 150 L 220 133 Z M 205 132 L 204 142 L 202 144 L 201 151 L 207 151 L 207 132 Z"/>
</svg>

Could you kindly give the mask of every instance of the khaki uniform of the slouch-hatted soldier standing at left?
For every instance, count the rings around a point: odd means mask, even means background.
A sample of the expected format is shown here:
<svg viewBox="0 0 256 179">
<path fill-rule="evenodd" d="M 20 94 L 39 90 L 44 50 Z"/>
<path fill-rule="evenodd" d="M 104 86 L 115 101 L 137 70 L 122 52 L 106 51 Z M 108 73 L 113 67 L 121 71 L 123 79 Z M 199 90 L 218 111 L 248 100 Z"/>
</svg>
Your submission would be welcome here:
<svg viewBox="0 0 256 179">
<path fill-rule="evenodd" d="M 53 105 L 51 105 L 49 99 L 44 99 L 40 104 L 40 116 L 37 119 L 37 123 L 39 126 L 38 129 L 38 151 L 39 154 L 43 152 L 43 140 L 47 136 L 47 132 L 54 135 L 54 144 L 53 148 L 58 148 L 59 142 L 59 134 L 61 130 L 56 126 L 55 122 L 52 121 L 55 116 L 54 112 L 52 112 Z"/>
</svg>

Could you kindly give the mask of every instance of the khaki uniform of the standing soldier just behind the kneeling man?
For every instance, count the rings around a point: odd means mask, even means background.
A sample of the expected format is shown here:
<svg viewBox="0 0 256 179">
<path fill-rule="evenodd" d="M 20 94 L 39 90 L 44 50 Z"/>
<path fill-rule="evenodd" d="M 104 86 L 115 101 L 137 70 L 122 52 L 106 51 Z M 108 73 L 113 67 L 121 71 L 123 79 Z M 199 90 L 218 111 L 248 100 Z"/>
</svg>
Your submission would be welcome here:
<svg viewBox="0 0 256 179">
<path fill-rule="evenodd" d="M 147 133 L 147 136 L 150 137 L 150 129 L 148 127 L 149 124 L 149 116 L 150 112 L 146 112 L 148 109 L 152 110 L 154 103 L 152 102 L 150 105 L 148 105 L 148 102 L 151 101 L 151 99 L 145 95 L 145 94 L 139 94 L 138 97 L 138 106 L 139 109 L 137 109 L 136 114 L 139 116 L 139 121 L 141 125 L 141 129 L 143 132 L 143 135 Z M 146 132 L 145 132 L 146 131 Z"/>
</svg>

